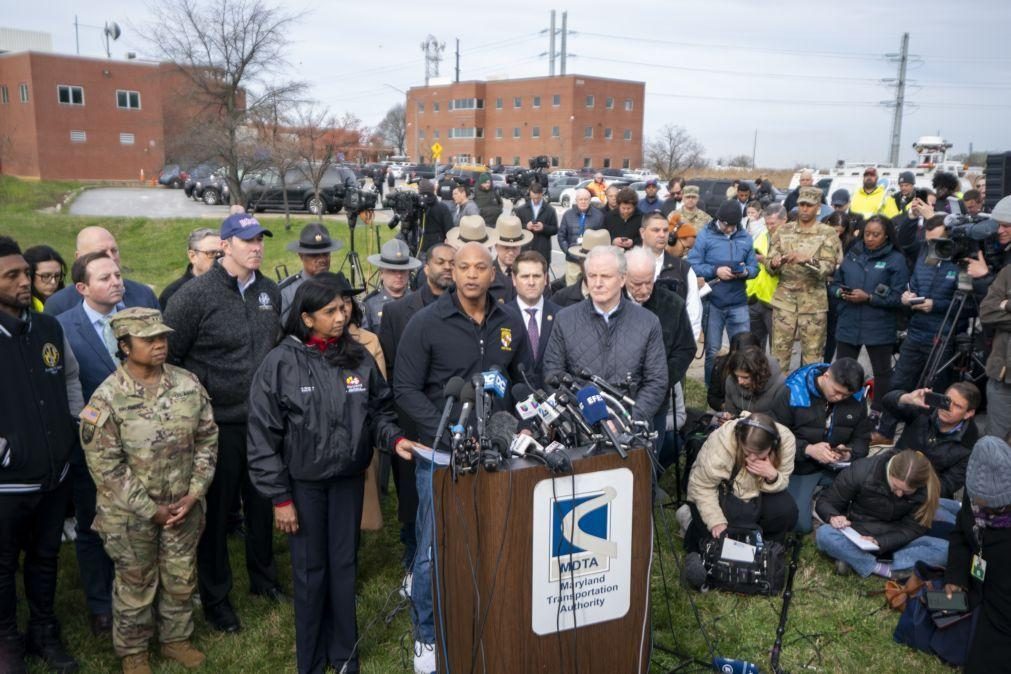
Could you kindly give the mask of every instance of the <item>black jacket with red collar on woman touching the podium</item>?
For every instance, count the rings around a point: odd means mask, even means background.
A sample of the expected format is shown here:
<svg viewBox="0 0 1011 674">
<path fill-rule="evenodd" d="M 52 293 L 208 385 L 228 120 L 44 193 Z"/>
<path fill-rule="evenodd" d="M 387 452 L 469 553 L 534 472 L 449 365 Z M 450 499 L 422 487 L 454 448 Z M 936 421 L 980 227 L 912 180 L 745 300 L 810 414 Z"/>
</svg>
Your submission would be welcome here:
<svg viewBox="0 0 1011 674">
<path fill-rule="evenodd" d="M 393 394 L 368 354 L 354 369 L 330 365 L 293 336 L 274 348 L 253 376 L 247 431 L 250 478 L 274 503 L 291 481 L 325 482 L 362 473 L 372 448 L 393 449 Z"/>
</svg>

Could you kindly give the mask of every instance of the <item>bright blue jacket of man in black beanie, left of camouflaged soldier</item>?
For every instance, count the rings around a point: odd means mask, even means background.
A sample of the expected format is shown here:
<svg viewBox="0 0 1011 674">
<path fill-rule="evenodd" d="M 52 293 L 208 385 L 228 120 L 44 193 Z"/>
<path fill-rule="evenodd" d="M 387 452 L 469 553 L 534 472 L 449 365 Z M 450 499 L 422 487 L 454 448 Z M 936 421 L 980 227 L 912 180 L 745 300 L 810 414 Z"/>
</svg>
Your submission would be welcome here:
<svg viewBox="0 0 1011 674">
<path fill-rule="evenodd" d="M 758 276 L 758 259 L 755 257 L 751 234 L 740 226 L 728 236 L 720 231 L 716 220 L 707 224 L 699 232 L 695 248 L 688 253 L 688 264 L 696 276 L 706 281 L 717 278 L 716 270 L 719 267 L 730 267 L 736 271 L 743 264 L 747 277 L 713 284 L 710 301 L 720 309 L 747 304 L 744 282 Z"/>
</svg>

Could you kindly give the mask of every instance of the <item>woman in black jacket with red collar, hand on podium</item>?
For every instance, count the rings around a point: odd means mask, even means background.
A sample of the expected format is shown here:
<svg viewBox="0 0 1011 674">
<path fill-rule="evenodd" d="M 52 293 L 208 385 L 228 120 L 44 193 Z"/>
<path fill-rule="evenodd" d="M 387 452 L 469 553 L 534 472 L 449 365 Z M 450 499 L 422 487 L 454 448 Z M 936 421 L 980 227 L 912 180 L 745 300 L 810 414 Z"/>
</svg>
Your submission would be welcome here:
<svg viewBox="0 0 1011 674">
<path fill-rule="evenodd" d="M 288 535 L 299 672 L 358 671 L 357 540 L 372 448 L 409 451 L 375 360 L 345 329 L 335 274 L 298 288 L 250 391 L 249 469 Z"/>
</svg>

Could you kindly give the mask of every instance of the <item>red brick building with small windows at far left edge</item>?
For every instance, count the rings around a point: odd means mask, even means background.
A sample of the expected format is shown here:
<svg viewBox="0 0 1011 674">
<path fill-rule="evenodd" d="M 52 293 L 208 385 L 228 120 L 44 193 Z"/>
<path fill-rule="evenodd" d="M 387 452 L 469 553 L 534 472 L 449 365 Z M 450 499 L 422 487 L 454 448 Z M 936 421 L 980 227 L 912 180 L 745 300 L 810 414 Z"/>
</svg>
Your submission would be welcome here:
<svg viewBox="0 0 1011 674">
<path fill-rule="evenodd" d="M 165 162 L 157 64 L 0 54 L 0 173 L 136 180 Z"/>
</svg>

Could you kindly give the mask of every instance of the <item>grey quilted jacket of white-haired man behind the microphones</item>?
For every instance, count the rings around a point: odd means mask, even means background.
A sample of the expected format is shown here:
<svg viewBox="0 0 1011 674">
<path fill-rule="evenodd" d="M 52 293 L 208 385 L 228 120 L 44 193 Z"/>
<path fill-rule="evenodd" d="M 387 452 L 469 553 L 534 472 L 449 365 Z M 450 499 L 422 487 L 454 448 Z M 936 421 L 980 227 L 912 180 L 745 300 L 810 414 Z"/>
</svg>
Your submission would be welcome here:
<svg viewBox="0 0 1011 674">
<path fill-rule="evenodd" d="M 666 397 L 666 350 L 660 320 L 624 295 L 609 321 L 585 299 L 555 316 L 544 352 L 545 379 L 585 368 L 616 386 L 630 379 L 635 413 L 652 419 Z"/>
</svg>

